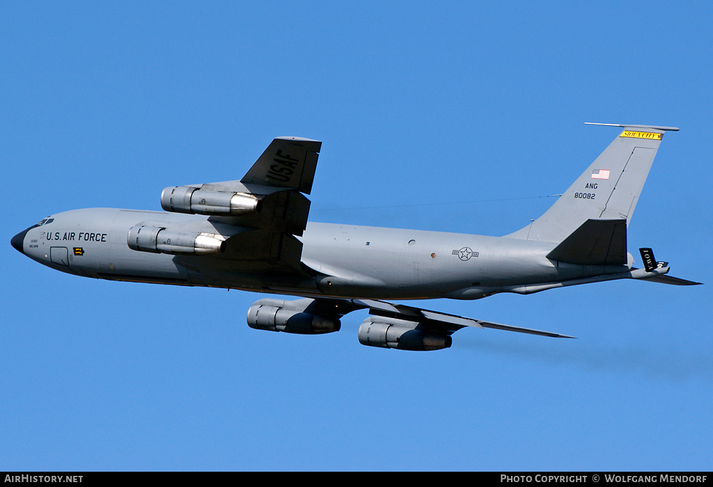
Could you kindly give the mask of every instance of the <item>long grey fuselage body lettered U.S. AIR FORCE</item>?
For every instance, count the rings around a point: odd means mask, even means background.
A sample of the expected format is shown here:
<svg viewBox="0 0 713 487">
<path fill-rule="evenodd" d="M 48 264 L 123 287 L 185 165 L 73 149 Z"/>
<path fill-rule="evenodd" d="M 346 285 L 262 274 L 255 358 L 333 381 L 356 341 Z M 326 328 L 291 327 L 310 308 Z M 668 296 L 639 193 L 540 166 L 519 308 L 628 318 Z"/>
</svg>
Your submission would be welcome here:
<svg viewBox="0 0 713 487">
<path fill-rule="evenodd" d="M 545 257 L 556 244 L 508 237 L 309 223 L 302 269 L 252 266 L 250 256 L 177 256 L 127 244 L 142 221 L 215 231 L 207 216 L 126 209 L 78 209 L 24 232 L 30 258 L 77 276 L 234 288 L 267 293 L 378 299 L 477 299 L 523 286 L 626 273 L 629 266 L 581 266 Z M 20 245 L 20 244 L 18 244 Z M 553 287 L 553 286 L 547 286 Z M 533 288 L 534 292 L 535 288 Z"/>
</svg>

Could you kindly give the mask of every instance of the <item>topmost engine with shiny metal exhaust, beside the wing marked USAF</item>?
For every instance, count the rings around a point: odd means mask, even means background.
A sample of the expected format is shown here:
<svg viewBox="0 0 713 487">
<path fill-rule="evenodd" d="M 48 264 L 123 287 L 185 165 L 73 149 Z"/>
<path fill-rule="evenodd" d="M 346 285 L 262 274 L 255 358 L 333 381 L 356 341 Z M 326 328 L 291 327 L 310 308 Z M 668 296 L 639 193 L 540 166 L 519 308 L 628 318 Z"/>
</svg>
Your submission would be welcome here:
<svg viewBox="0 0 713 487">
<path fill-rule="evenodd" d="M 259 213 L 262 202 L 254 194 L 172 186 L 161 192 L 161 207 L 176 213 L 228 216 Z"/>
</svg>

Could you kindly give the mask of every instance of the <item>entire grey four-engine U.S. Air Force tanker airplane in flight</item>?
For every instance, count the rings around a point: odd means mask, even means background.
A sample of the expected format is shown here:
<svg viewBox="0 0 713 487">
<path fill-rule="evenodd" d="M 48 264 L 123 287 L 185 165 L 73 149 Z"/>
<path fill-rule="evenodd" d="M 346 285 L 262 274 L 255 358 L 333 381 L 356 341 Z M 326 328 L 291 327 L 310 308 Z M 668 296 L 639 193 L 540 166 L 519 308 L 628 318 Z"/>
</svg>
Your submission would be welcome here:
<svg viewBox="0 0 713 487">
<path fill-rule="evenodd" d="M 165 211 L 92 208 L 47 216 L 11 245 L 58 271 L 89 278 L 294 295 L 247 311 L 258 330 L 316 335 L 369 310 L 363 345 L 451 347 L 465 327 L 568 337 L 391 300 L 475 300 L 637 279 L 678 286 L 667 262 L 627 252 L 627 226 L 662 137 L 677 127 L 591 124 L 622 132 L 540 218 L 505 236 L 307 221 L 322 142 L 277 137 L 240 180 L 163 189 Z"/>
</svg>

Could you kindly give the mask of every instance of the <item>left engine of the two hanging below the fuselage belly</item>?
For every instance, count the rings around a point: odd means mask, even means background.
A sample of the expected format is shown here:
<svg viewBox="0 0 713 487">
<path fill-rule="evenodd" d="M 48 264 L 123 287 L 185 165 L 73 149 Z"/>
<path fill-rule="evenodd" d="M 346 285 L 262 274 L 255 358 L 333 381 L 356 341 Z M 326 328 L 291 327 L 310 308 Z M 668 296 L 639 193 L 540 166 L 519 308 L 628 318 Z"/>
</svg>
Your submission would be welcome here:
<svg viewBox="0 0 713 487">
<path fill-rule="evenodd" d="M 319 335 L 339 331 L 341 328 L 339 320 L 331 316 L 314 315 L 301 310 L 257 303 L 247 310 L 247 325 L 256 330 L 282 331 L 299 335 Z"/>
</svg>

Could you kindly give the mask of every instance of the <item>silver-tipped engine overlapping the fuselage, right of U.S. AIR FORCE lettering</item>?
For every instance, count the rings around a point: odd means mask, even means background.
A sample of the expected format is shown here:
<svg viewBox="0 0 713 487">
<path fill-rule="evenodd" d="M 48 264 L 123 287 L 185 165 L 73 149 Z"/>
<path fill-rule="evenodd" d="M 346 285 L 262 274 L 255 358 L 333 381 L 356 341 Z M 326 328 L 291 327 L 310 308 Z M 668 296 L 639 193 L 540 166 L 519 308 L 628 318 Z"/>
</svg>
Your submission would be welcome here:
<svg viewBox="0 0 713 487">
<path fill-rule="evenodd" d="M 142 252 L 201 256 L 225 252 L 222 235 L 174 231 L 159 226 L 132 226 L 126 243 L 129 248 Z"/>
</svg>

